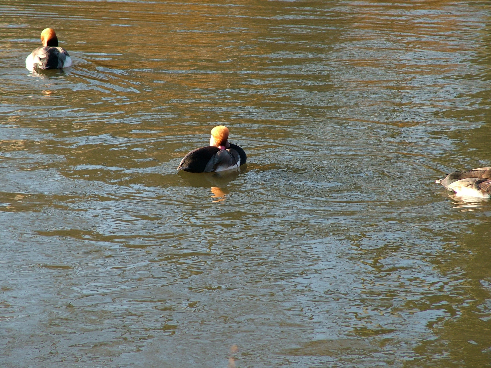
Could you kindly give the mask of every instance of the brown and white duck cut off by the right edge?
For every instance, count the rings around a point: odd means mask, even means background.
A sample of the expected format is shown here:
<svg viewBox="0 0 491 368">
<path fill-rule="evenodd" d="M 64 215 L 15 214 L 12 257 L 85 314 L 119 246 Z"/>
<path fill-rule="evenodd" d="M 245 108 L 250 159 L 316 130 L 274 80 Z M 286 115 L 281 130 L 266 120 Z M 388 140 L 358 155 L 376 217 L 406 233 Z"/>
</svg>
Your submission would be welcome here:
<svg viewBox="0 0 491 368">
<path fill-rule="evenodd" d="M 435 183 L 455 192 L 458 197 L 491 198 L 491 167 L 454 171 Z"/>
</svg>

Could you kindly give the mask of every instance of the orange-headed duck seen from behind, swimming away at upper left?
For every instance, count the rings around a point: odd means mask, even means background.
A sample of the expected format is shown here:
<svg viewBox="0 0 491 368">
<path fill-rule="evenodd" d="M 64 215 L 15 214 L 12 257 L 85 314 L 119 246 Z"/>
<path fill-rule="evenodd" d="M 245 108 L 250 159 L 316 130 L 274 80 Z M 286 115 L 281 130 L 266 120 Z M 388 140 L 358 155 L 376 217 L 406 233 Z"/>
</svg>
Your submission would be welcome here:
<svg viewBox="0 0 491 368">
<path fill-rule="evenodd" d="M 41 32 L 43 46 L 38 47 L 26 58 L 26 68 L 34 69 L 60 69 L 72 66 L 70 55 L 62 47 L 58 47 L 58 37 L 55 30 L 45 28 Z"/>
</svg>

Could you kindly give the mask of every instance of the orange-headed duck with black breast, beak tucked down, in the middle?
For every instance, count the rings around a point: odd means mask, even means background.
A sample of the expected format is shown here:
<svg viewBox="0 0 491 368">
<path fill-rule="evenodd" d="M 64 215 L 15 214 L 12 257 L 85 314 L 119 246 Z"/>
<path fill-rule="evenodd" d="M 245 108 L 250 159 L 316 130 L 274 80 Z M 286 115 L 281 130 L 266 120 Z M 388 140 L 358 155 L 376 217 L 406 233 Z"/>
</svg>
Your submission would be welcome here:
<svg viewBox="0 0 491 368">
<path fill-rule="evenodd" d="M 244 150 L 228 141 L 229 130 L 218 125 L 211 131 L 210 145 L 197 148 L 181 160 L 177 170 L 209 173 L 236 169 L 247 160 Z"/>
</svg>

